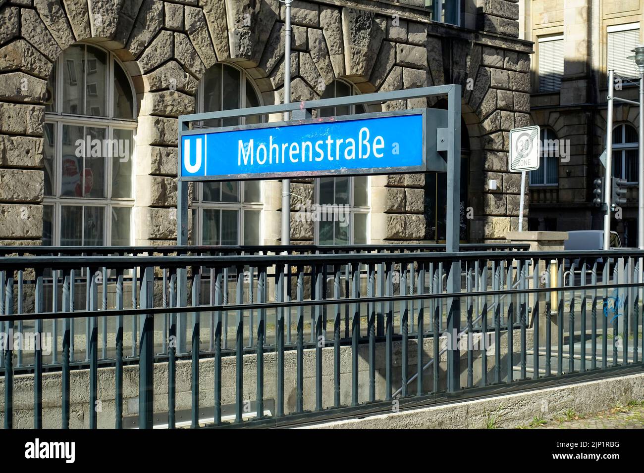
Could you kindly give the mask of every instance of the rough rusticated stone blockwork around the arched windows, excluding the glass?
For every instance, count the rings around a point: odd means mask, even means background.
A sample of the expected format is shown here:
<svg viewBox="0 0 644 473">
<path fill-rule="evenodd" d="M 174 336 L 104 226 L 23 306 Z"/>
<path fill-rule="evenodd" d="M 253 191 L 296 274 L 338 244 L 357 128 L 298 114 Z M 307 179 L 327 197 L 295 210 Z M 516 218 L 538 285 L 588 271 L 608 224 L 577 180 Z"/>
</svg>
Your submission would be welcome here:
<svg viewBox="0 0 644 473">
<path fill-rule="evenodd" d="M 461 84 L 471 149 L 469 239 L 504 239 L 517 227 L 520 185 L 518 175 L 507 173 L 508 131 L 528 122 L 532 46 L 516 39 L 514 1 L 464 3 L 463 24 L 473 29 L 430 21 L 422 0 L 294 1 L 292 100 L 319 98 L 339 78 L 363 93 Z M 194 111 L 198 81 L 222 61 L 249 73 L 264 104 L 283 100 L 284 14 L 278 0 L 0 0 L 0 242 L 38 244 L 42 237 L 46 80 L 63 50 L 80 41 L 99 44 L 133 79 L 134 243 L 173 243 L 176 117 Z M 426 103 L 381 108 L 417 106 Z M 487 189 L 489 179 L 497 190 Z M 371 182 L 372 243 L 426 239 L 424 176 Z M 292 185 L 294 194 L 312 199 L 312 181 Z M 280 238 L 279 189 L 276 181 L 265 183 L 263 243 Z M 295 209 L 298 199 L 292 202 Z M 313 233 L 312 223 L 298 223 L 291 237 L 310 242 Z"/>
</svg>

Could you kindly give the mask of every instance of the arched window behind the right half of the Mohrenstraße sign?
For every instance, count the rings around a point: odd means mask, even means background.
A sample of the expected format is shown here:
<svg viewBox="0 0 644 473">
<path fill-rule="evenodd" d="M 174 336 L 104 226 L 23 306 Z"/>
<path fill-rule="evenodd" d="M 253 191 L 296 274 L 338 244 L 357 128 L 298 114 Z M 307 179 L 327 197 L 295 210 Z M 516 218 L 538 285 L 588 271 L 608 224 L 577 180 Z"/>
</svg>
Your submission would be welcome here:
<svg viewBox="0 0 644 473">
<path fill-rule="evenodd" d="M 334 80 L 321 98 L 347 97 L 359 93 L 355 86 Z M 366 113 L 362 105 L 319 109 L 318 116 L 353 115 Z M 366 245 L 369 236 L 369 178 L 368 176 L 316 179 L 318 205 L 343 205 L 345 213 L 334 221 L 316 222 L 317 245 Z M 346 218 L 340 218 L 341 216 Z"/>
</svg>

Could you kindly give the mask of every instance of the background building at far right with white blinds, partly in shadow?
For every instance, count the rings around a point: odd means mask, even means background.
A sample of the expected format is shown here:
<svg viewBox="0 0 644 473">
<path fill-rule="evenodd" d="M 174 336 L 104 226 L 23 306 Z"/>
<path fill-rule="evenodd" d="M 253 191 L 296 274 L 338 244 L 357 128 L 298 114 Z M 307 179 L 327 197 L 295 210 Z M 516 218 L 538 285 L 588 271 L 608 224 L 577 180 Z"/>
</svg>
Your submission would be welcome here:
<svg viewBox="0 0 644 473">
<path fill-rule="evenodd" d="M 603 211 L 592 205 L 593 181 L 604 176 L 600 155 L 606 147 L 609 69 L 638 81 L 636 66 L 627 59 L 644 43 L 643 0 L 529 0 L 524 3 L 522 36 L 535 42 L 531 67 L 531 118 L 564 145 L 567 156 L 550 160 L 550 178 L 530 185 L 531 230 L 603 228 Z M 549 45 L 559 41 L 561 55 Z M 540 51 L 543 50 L 543 53 Z M 554 85 L 540 78 L 548 68 Z M 616 95 L 638 100 L 638 86 L 616 75 Z M 545 90 L 544 90 L 545 89 Z M 614 107 L 613 174 L 629 181 L 628 203 L 612 230 L 623 246 L 638 246 L 637 149 L 638 107 Z M 534 176 L 533 176 L 534 177 Z M 614 215 L 615 217 L 616 215 Z"/>
</svg>

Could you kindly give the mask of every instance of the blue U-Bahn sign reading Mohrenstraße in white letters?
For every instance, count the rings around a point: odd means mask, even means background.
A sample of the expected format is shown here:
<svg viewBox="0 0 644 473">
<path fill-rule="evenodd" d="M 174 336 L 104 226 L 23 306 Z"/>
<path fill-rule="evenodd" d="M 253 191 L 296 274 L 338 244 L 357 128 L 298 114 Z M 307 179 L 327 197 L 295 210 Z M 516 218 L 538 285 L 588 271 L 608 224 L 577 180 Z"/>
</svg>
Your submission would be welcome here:
<svg viewBox="0 0 644 473">
<path fill-rule="evenodd" d="M 180 179 L 252 180 L 446 171 L 446 111 L 414 109 L 193 129 L 180 135 Z"/>
</svg>

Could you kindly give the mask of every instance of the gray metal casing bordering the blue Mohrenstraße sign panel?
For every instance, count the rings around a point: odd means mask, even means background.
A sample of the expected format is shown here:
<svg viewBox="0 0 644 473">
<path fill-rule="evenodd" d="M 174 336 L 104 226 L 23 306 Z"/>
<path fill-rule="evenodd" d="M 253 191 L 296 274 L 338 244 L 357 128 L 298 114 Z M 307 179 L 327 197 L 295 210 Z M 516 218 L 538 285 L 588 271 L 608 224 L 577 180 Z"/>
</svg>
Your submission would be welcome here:
<svg viewBox="0 0 644 473">
<path fill-rule="evenodd" d="M 292 177 L 322 177 L 322 176 L 359 176 L 361 174 L 369 174 L 372 176 L 378 174 L 403 174 L 412 172 L 446 172 L 447 162 L 444 157 L 431 156 L 430 153 L 437 149 L 437 134 L 428 133 L 428 127 L 433 124 L 445 126 L 447 111 L 442 109 L 409 109 L 409 110 L 396 110 L 386 112 L 370 112 L 360 113 L 357 115 L 342 115 L 342 116 L 327 116 L 323 118 L 305 118 L 303 120 L 290 120 L 288 122 L 265 122 L 260 124 L 250 125 L 232 125 L 227 127 L 218 128 L 196 128 L 187 131 L 180 131 L 180 154 L 178 156 L 180 163 L 178 171 L 181 172 L 182 163 L 182 146 L 184 136 L 191 136 L 195 134 L 216 134 L 226 133 L 230 131 L 244 131 L 253 129 L 270 129 L 278 127 L 292 127 L 298 125 L 308 124 L 324 124 L 324 123 L 338 123 L 348 122 L 355 120 L 368 120 L 370 118 L 388 118 L 392 116 L 408 116 L 408 115 L 421 115 L 422 118 L 422 163 L 417 166 L 401 166 L 401 167 L 364 167 L 364 168 L 340 168 L 325 171 L 282 171 L 282 172 L 256 172 L 248 174 L 222 174 L 218 176 L 180 176 L 179 180 L 182 181 L 242 181 L 242 180 L 264 180 L 264 179 L 281 179 Z"/>
</svg>

